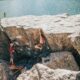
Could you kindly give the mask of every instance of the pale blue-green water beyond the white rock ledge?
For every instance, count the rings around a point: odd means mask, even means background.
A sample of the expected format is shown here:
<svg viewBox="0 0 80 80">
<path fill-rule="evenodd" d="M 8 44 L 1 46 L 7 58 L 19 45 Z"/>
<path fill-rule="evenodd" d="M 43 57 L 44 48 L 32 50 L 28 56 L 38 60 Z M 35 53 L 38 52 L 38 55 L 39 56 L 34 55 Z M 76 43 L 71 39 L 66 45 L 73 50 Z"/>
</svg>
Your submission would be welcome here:
<svg viewBox="0 0 80 80">
<path fill-rule="evenodd" d="M 0 15 L 7 17 L 24 15 L 79 14 L 80 0 L 3 0 Z"/>
</svg>

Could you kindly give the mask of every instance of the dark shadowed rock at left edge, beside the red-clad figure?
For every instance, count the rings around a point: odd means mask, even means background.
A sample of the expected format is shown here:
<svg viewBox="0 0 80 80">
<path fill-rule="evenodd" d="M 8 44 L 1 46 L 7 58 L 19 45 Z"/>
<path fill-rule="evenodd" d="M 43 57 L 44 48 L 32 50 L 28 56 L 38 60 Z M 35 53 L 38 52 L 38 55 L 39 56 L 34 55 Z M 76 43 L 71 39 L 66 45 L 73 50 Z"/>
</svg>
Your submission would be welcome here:
<svg viewBox="0 0 80 80">
<path fill-rule="evenodd" d="M 0 59 L 9 61 L 9 41 L 0 30 Z"/>
</svg>

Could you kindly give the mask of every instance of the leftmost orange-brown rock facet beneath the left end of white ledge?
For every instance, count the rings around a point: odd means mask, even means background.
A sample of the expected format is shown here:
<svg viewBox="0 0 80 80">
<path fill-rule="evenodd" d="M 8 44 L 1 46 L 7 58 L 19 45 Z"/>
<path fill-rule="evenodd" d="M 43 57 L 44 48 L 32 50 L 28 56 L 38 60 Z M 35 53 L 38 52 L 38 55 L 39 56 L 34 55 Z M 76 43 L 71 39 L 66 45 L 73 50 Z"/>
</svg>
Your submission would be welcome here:
<svg viewBox="0 0 80 80">
<path fill-rule="evenodd" d="M 11 40 L 17 40 L 21 45 L 25 45 L 28 42 L 28 37 L 24 34 L 23 28 L 12 26 L 5 28 L 5 31 Z"/>
</svg>

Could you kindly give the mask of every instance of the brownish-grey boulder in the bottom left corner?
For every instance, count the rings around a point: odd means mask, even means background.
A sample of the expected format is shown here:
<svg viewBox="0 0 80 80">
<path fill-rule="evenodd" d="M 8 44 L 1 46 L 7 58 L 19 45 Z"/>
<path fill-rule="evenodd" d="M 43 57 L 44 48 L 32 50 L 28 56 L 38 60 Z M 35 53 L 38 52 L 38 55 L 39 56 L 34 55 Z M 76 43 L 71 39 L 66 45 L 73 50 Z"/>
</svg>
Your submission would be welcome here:
<svg viewBox="0 0 80 80">
<path fill-rule="evenodd" d="M 0 80 L 13 80 L 13 73 L 5 61 L 0 60 Z"/>
</svg>

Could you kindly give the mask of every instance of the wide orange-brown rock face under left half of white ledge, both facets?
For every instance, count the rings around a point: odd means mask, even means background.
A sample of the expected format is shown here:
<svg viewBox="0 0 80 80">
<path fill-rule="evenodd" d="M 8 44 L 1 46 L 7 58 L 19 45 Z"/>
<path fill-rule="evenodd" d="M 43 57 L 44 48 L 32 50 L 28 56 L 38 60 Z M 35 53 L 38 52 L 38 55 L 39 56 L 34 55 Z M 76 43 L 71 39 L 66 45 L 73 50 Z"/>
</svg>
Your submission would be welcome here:
<svg viewBox="0 0 80 80">
<path fill-rule="evenodd" d="M 16 26 L 12 26 L 6 27 L 5 31 L 11 40 L 16 39 L 21 45 L 29 45 L 31 39 L 33 39 L 33 42 L 35 43 L 35 40 L 39 40 L 40 37 L 39 28 L 24 29 L 22 27 L 17 28 Z"/>
</svg>

